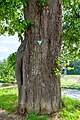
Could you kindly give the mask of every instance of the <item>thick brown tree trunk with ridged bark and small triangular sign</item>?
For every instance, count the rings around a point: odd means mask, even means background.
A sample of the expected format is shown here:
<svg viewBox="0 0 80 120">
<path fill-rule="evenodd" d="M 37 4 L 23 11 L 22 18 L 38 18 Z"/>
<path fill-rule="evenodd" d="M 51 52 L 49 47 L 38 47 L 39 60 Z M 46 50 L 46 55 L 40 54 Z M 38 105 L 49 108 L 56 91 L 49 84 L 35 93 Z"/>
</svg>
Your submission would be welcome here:
<svg viewBox="0 0 80 120">
<path fill-rule="evenodd" d="M 61 100 L 60 77 L 54 72 L 61 51 L 61 0 L 48 0 L 43 8 L 38 1 L 28 0 L 24 8 L 25 19 L 34 26 L 25 32 L 21 60 L 17 53 L 19 112 L 50 114 L 59 110 Z"/>
</svg>

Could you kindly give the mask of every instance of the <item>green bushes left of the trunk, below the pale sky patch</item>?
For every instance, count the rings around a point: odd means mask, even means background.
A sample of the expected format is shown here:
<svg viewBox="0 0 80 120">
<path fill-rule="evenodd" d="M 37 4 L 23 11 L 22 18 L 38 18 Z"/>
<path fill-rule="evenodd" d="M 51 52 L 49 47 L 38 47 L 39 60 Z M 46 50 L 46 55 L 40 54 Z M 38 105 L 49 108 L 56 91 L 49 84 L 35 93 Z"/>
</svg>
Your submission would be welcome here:
<svg viewBox="0 0 80 120">
<path fill-rule="evenodd" d="M 16 53 L 9 55 L 8 59 L 0 62 L 0 82 L 15 82 Z"/>
</svg>

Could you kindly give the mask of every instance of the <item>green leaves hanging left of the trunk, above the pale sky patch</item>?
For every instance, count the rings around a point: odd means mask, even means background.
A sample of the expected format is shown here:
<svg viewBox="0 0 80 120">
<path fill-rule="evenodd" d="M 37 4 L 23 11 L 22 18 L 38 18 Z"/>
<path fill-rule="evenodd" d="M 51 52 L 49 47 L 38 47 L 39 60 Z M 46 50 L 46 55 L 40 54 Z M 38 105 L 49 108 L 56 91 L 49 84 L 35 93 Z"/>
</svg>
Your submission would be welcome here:
<svg viewBox="0 0 80 120">
<path fill-rule="evenodd" d="M 24 20 L 24 8 L 26 0 L 0 1 L 0 35 L 8 32 L 9 35 L 18 33 L 19 38 L 25 29 L 33 25 L 31 20 Z"/>
</svg>

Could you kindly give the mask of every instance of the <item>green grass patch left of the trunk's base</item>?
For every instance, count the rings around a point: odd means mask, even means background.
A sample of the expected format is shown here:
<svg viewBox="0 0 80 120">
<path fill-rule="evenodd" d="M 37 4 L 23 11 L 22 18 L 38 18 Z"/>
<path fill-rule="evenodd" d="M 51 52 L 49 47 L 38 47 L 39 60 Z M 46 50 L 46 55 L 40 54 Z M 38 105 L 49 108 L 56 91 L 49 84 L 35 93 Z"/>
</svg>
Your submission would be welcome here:
<svg viewBox="0 0 80 120">
<path fill-rule="evenodd" d="M 0 109 L 12 113 L 17 109 L 17 90 L 0 90 Z"/>
</svg>

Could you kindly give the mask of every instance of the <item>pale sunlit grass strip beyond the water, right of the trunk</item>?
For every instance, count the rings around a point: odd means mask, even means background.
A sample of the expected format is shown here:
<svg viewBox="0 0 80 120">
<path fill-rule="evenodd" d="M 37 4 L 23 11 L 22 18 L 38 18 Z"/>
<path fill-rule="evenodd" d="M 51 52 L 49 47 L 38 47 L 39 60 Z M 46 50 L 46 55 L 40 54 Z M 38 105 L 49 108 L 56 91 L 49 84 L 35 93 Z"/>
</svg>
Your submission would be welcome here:
<svg viewBox="0 0 80 120">
<path fill-rule="evenodd" d="M 61 87 L 80 89 L 80 75 L 62 75 Z"/>
</svg>

